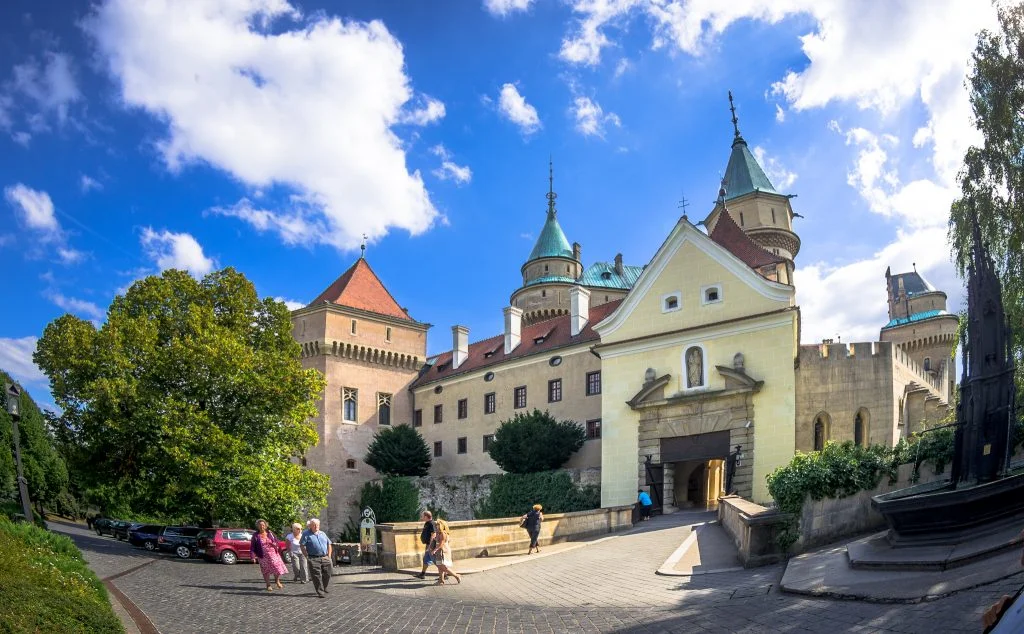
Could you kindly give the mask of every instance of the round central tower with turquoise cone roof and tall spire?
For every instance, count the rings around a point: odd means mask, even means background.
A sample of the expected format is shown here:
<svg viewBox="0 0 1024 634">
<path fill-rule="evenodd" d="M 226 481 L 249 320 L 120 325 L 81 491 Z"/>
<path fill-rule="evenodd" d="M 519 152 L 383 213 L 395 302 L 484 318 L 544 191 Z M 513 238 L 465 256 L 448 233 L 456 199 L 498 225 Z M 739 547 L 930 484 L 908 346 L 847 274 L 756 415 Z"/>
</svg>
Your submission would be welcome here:
<svg viewBox="0 0 1024 634">
<path fill-rule="evenodd" d="M 511 305 L 520 308 L 523 325 L 569 313 L 569 289 L 583 273 L 580 245 L 569 246 L 555 208 L 554 168 L 548 165 L 548 217 L 523 263 L 522 286 L 512 293 Z"/>
</svg>

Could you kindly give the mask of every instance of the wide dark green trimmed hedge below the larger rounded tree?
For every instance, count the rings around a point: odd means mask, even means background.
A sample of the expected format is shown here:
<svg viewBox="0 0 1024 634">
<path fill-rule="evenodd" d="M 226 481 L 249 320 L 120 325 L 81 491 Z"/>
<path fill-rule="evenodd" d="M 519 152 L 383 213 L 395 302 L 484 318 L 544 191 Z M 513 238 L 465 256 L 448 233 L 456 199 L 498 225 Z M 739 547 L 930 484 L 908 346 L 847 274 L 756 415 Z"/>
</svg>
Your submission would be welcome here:
<svg viewBox="0 0 1024 634">
<path fill-rule="evenodd" d="M 588 511 L 601 506 L 597 487 L 577 487 L 565 471 L 540 473 L 504 473 L 494 479 L 490 494 L 475 510 L 479 519 L 515 517 L 535 504 L 546 513 Z"/>
</svg>

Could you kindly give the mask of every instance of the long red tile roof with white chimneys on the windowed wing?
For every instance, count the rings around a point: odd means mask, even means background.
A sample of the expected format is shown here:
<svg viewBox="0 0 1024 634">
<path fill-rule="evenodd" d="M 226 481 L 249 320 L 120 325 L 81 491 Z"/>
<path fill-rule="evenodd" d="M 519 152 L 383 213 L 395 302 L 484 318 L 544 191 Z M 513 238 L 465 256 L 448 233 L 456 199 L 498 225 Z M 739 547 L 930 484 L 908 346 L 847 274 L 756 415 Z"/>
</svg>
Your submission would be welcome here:
<svg viewBox="0 0 1024 634">
<path fill-rule="evenodd" d="M 431 360 L 432 365 L 423 371 L 420 378 L 413 382 L 412 387 L 416 388 L 440 379 L 482 370 L 490 366 L 498 366 L 507 361 L 522 358 L 531 354 L 541 354 L 568 345 L 586 343 L 588 341 L 596 342 L 600 337 L 594 332 L 594 324 L 611 314 L 611 311 L 618 307 L 620 303 L 622 303 L 621 299 L 592 307 L 587 326 L 575 337 L 569 335 L 570 315 L 563 314 L 551 320 L 524 326 L 521 331 L 522 339 L 519 345 L 509 354 L 505 353 L 504 334 L 471 343 L 469 344 L 469 356 L 459 366 L 458 370 L 452 369 L 452 350 L 442 352 Z M 544 340 L 537 343 L 535 340 L 542 336 Z M 494 353 L 490 356 L 486 356 L 488 352 Z"/>
</svg>

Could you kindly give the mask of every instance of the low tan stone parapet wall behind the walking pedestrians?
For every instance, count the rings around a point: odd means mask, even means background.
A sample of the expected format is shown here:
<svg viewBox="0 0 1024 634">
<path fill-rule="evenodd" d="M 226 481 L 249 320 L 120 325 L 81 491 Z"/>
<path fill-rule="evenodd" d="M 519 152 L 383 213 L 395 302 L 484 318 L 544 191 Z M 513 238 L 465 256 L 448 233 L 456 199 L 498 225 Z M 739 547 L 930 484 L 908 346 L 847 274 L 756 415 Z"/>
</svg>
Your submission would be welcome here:
<svg viewBox="0 0 1024 634">
<path fill-rule="evenodd" d="M 540 543 L 546 546 L 625 531 L 633 525 L 632 514 L 632 505 L 545 514 Z M 529 547 L 529 536 L 519 527 L 518 517 L 450 521 L 449 527 L 452 531 L 452 554 L 456 559 L 501 555 L 524 551 Z M 386 569 L 420 566 L 423 557 L 423 544 L 420 543 L 422 522 L 380 524 L 377 529 L 382 542 L 380 561 Z"/>
</svg>

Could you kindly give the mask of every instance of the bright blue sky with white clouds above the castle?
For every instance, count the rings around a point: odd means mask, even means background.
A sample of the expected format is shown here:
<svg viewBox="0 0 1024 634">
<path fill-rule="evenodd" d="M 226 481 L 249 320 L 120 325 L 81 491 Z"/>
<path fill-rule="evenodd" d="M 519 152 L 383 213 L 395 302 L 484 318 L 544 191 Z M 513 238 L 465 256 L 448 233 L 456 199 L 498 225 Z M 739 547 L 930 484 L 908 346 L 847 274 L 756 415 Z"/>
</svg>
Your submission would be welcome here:
<svg viewBox="0 0 1024 634">
<path fill-rule="evenodd" d="M 869 340 L 884 271 L 961 301 L 948 204 L 986 2 L 8 0 L 0 6 L 0 367 L 163 268 L 301 304 L 358 255 L 470 338 L 544 222 L 644 264 L 712 207 L 739 127 L 796 194 L 805 342 Z"/>
</svg>

